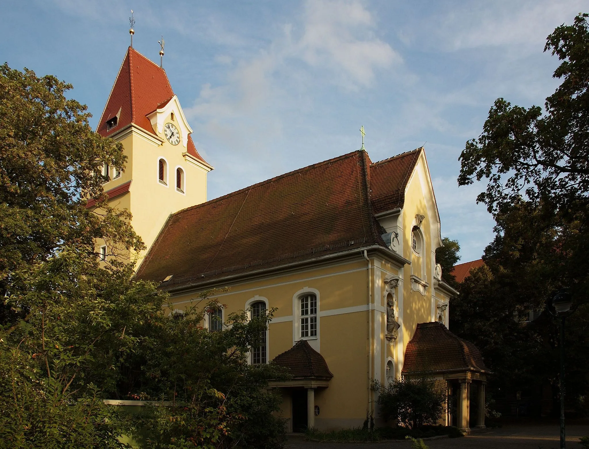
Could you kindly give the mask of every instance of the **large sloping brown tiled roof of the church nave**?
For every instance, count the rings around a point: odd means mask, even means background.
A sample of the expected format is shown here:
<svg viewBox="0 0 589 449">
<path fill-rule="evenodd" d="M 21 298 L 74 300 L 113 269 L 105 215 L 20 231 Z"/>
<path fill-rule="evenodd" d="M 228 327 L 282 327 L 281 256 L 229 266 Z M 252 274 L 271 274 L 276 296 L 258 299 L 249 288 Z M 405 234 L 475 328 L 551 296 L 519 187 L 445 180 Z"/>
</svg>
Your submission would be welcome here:
<svg viewBox="0 0 589 449">
<path fill-rule="evenodd" d="M 399 188 L 395 179 L 408 179 L 412 169 L 396 164 L 396 158 L 378 164 L 398 167 L 388 171 L 394 189 Z M 389 184 L 370 184 L 373 165 L 365 151 L 354 151 L 176 212 L 137 277 L 163 281 L 172 275 L 162 284 L 172 290 L 372 245 L 386 247 L 371 197 L 386 197 Z"/>
</svg>

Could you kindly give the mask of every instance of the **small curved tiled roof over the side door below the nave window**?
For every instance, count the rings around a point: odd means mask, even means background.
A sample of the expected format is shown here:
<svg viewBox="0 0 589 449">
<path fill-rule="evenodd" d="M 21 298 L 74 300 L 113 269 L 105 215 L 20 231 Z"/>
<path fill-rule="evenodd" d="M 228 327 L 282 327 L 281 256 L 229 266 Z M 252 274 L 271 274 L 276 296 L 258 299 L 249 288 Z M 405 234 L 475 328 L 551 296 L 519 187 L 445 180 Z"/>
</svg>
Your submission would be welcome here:
<svg viewBox="0 0 589 449">
<path fill-rule="evenodd" d="M 333 377 L 323 355 L 315 351 L 306 340 L 297 341 L 288 351 L 274 357 L 273 361 L 289 368 L 295 379 L 329 380 Z"/>
</svg>

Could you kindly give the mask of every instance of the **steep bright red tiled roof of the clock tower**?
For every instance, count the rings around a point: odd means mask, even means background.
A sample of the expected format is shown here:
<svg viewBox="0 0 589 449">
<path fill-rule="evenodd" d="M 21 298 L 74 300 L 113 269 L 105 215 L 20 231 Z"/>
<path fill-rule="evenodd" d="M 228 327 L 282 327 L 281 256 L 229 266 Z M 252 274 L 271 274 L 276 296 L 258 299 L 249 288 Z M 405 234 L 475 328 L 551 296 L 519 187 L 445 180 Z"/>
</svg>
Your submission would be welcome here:
<svg viewBox="0 0 589 449">
<path fill-rule="evenodd" d="M 166 71 L 133 47 L 129 47 L 118 71 L 117 79 L 112 85 L 96 131 L 104 137 L 109 137 L 128 125 L 134 124 L 149 134 L 154 134 L 147 115 L 166 105 L 172 97 L 174 97 L 174 91 Z M 107 121 L 117 115 L 117 125 L 107 129 Z M 198 154 L 190 135 L 188 135 L 186 151 L 206 164 L 206 161 Z"/>
</svg>

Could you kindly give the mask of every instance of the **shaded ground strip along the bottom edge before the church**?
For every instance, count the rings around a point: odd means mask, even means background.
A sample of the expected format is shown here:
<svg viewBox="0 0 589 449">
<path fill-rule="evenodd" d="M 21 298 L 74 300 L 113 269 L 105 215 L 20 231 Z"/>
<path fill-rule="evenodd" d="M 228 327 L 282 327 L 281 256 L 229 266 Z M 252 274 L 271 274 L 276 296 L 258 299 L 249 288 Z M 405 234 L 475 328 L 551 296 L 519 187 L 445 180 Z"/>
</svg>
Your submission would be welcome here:
<svg viewBox="0 0 589 449">
<path fill-rule="evenodd" d="M 497 429 L 474 431 L 464 438 L 425 440 L 431 449 L 558 449 L 560 447 L 558 425 L 504 425 Z M 589 435 L 589 425 L 567 426 L 567 447 L 580 449 L 579 438 Z M 386 441 L 383 443 L 313 443 L 300 435 L 291 435 L 289 449 L 351 449 L 358 447 L 375 449 L 409 449 L 411 441 Z"/>
</svg>

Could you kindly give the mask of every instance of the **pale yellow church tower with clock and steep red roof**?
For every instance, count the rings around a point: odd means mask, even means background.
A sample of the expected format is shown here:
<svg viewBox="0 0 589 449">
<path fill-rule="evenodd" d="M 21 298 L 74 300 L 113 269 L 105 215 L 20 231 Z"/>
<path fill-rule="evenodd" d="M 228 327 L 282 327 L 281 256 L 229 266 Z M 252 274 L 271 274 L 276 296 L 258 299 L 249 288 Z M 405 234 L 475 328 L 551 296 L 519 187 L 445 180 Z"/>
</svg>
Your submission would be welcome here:
<svg viewBox="0 0 589 449">
<path fill-rule="evenodd" d="M 105 164 L 102 174 L 110 180 L 104 191 L 112 207 L 133 214 L 147 250 L 170 214 L 207 200 L 207 173 L 213 167 L 194 147 L 193 130 L 166 71 L 131 46 L 96 131 L 123 144 L 125 171 Z M 100 251 L 108 254 L 108 248 Z"/>
</svg>

